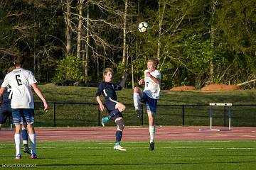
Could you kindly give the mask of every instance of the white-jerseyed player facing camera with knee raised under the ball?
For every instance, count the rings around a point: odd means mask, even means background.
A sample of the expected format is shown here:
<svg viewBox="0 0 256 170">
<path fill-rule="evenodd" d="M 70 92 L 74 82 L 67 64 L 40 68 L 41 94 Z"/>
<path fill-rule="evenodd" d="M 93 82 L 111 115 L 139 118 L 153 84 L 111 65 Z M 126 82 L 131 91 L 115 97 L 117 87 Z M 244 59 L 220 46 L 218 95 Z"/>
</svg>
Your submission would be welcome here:
<svg viewBox="0 0 256 170">
<path fill-rule="evenodd" d="M 156 132 L 156 104 L 159 100 L 161 73 L 156 70 L 159 61 L 148 60 L 147 69 L 144 71 L 144 79 L 139 80 L 139 85 L 144 85 L 144 91 L 139 87 L 134 88 L 134 107 L 137 116 L 140 116 L 139 101 L 146 104 L 146 111 L 149 117 L 149 150 L 154 150 L 154 135 Z"/>
</svg>

